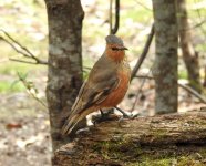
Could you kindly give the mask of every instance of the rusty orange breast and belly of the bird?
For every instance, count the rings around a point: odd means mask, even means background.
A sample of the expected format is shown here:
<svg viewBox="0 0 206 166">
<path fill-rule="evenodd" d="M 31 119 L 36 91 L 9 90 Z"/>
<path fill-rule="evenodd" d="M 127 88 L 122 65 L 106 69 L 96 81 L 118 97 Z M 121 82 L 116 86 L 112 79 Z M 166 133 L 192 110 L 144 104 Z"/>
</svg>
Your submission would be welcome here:
<svg viewBox="0 0 206 166">
<path fill-rule="evenodd" d="M 100 107 L 114 107 L 124 98 L 128 89 L 130 76 L 121 72 L 119 77 L 120 83 L 117 87 L 100 104 Z"/>
</svg>

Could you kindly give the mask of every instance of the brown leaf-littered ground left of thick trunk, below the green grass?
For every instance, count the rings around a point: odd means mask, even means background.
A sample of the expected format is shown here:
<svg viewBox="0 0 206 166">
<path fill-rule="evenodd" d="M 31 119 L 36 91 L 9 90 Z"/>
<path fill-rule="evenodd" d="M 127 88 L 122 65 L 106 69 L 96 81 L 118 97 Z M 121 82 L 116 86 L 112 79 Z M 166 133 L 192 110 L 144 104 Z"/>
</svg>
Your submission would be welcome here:
<svg viewBox="0 0 206 166">
<path fill-rule="evenodd" d="M 0 165 L 50 166 L 48 113 L 27 93 L 1 96 L 0 112 Z"/>
</svg>

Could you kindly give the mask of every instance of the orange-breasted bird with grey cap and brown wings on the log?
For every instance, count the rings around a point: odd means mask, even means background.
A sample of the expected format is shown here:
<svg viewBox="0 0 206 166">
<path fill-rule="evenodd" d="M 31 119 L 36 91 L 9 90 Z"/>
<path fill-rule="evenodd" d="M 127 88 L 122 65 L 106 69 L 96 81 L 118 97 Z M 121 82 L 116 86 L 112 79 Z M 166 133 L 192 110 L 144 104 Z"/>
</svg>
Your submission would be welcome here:
<svg viewBox="0 0 206 166">
<path fill-rule="evenodd" d="M 131 80 L 131 68 L 125 56 L 127 48 L 114 34 L 107 35 L 105 40 L 105 51 L 80 89 L 62 127 L 62 135 L 69 135 L 75 125 L 90 113 L 116 106 L 126 94 Z"/>
</svg>

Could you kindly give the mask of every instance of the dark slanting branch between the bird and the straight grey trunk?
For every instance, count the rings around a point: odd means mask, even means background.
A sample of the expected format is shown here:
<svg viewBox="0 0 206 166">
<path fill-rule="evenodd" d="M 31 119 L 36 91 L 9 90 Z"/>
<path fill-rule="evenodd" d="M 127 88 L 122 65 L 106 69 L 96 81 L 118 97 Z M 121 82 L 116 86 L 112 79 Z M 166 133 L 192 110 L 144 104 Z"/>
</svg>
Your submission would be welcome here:
<svg viewBox="0 0 206 166">
<path fill-rule="evenodd" d="M 144 59 L 146 58 L 146 54 L 148 52 L 148 49 L 151 46 L 151 43 L 152 43 L 152 40 L 153 40 L 153 37 L 154 37 L 154 23 L 151 28 L 151 33 L 148 34 L 148 38 L 146 40 L 146 43 L 145 43 L 145 46 L 144 46 L 144 50 L 138 59 L 138 61 L 136 62 L 133 71 L 132 71 L 132 76 L 131 76 L 131 81 L 134 79 L 134 76 L 136 75 L 136 73 L 138 72 L 138 69 L 141 68 L 141 64 L 143 63 Z"/>
</svg>

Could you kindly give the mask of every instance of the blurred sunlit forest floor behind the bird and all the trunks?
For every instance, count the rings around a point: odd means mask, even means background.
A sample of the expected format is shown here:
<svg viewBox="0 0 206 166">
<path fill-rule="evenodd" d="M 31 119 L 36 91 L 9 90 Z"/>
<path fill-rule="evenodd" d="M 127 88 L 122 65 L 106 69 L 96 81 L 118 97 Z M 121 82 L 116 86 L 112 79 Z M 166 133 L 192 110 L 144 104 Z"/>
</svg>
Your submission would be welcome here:
<svg viewBox="0 0 206 166">
<path fill-rule="evenodd" d="M 203 1 L 204 2 L 204 1 Z M 199 2 L 200 3 L 200 2 Z M 85 11 L 83 29 L 83 59 L 85 66 L 92 66 L 102 54 L 104 37 L 109 32 L 107 3 L 83 0 Z M 205 7 L 205 6 L 203 6 Z M 41 59 L 48 54 L 48 29 L 45 7 L 41 0 L 9 0 L 0 2 L 0 24 L 22 45 L 29 48 Z M 29 9 L 29 10 L 28 10 Z M 135 9 L 135 10 L 134 10 Z M 152 24 L 150 0 L 143 3 L 131 1 L 122 4 L 121 35 L 130 48 L 128 60 L 132 65 L 142 52 L 144 41 Z M 202 14 L 205 10 L 200 10 Z M 196 12 L 194 12 L 196 13 Z M 194 15 L 192 12 L 192 15 Z M 204 14 L 203 14 L 204 15 Z M 87 20 L 87 21 L 86 21 Z M 198 21 L 198 20 L 197 20 Z M 198 23 L 198 22 L 195 22 Z M 92 29 L 91 29 L 92 27 Z M 202 29 L 205 29 L 202 27 Z M 0 35 L 3 35 L 1 33 Z M 4 37 L 4 35 L 3 35 Z M 200 64 L 205 62 L 205 35 L 197 30 L 194 41 L 200 52 Z M 138 44 L 136 44 L 138 43 Z M 50 124 L 47 108 L 27 93 L 18 73 L 28 74 L 27 81 L 38 89 L 38 97 L 45 103 L 47 66 L 22 64 L 9 61 L 9 58 L 22 59 L 7 43 L 0 41 L 0 166 L 49 166 L 51 165 Z M 140 75 L 148 73 L 154 60 L 154 43 Z M 186 72 L 179 61 L 179 79 L 186 81 Z M 202 70 L 203 71 L 203 70 Z M 84 73 L 86 76 L 87 74 Z M 202 74 L 203 75 L 203 74 Z M 135 96 L 143 79 L 135 79 L 120 107 L 141 113 L 142 116 L 154 114 L 154 81 L 146 80 L 135 102 Z M 204 106 L 196 97 L 179 87 L 179 112 L 198 110 Z M 133 104 L 135 104 L 134 108 Z"/>
</svg>

